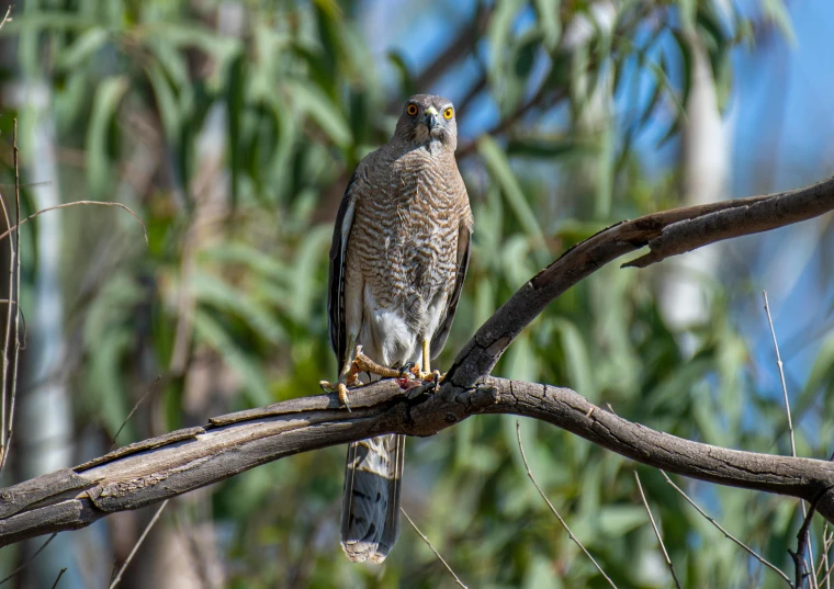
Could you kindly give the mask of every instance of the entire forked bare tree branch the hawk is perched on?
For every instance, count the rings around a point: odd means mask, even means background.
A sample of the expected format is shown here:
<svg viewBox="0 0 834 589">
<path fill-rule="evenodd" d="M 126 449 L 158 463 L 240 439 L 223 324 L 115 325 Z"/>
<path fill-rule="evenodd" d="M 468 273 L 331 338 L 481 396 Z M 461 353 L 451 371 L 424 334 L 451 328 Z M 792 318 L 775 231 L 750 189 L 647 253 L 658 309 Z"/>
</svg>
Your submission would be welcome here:
<svg viewBox="0 0 834 589">
<path fill-rule="evenodd" d="M 2 489 L 0 546 L 83 528 L 109 513 L 156 503 L 300 452 L 382 433 L 431 435 L 480 414 L 532 417 L 667 472 L 818 500 L 818 512 L 834 522 L 831 462 L 691 442 L 632 423 L 568 388 L 488 376 L 550 302 L 620 256 L 647 246 L 651 251 L 636 260 L 647 265 L 832 209 L 834 179 L 829 179 L 797 191 L 677 208 L 609 227 L 565 252 L 505 303 L 458 354 L 435 394 L 406 394 L 396 382 L 383 381 L 351 392 L 352 412 L 335 394 L 288 400 L 217 417 L 205 427 L 137 442 Z"/>
</svg>

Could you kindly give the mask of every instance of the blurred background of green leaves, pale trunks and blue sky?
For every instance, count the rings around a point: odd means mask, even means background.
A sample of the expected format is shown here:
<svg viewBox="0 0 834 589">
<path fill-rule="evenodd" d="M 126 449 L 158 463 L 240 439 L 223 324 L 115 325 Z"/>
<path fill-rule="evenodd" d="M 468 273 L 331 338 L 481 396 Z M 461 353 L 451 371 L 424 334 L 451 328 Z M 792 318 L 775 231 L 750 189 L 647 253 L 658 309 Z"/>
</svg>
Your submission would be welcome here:
<svg viewBox="0 0 834 589">
<path fill-rule="evenodd" d="M 12 217 L 16 117 L 21 215 L 119 202 L 148 242 L 115 207 L 22 228 L 25 350 L 3 486 L 105 453 L 142 399 L 120 445 L 317 394 L 336 375 L 325 291 L 338 202 L 412 93 L 454 101 L 475 216 L 441 367 L 597 230 L 834 170 L 826 0 L 19 0 L 11 16 L 0 194 Z M 789 454 L 766 288 L 797 452 L 827 458 L 832 220 L 649 270 L 604 268 L 495 374 L 571 386 L 688 439 Z M 550 426 L 522 420 L 521 435 L 544 491 L 618 587 L 672 586 L 635 468 L 684 587 L 784 586 L 660 473 Z M 404 507 L 470 587 L 608 586 L 527 478 L 516 418 L 470 419 L 407 448 Z M 384 566 L 347 562 L 343 461 L 345 448 L 302 454 L 171 501 L 121 587 L 452 587 L 406 523 Z M 792 570 L 796 500 L 676 480 Z M 48 588 L 66 567 L 63 589 L 106 587 L 154 511 L 59 534 L 9 586 Z M 819 559 L 821 523 L 813 533 Z M 0 551 L 0 575 L 44 540 Z"/>
</svg>

